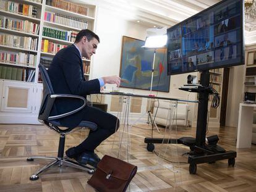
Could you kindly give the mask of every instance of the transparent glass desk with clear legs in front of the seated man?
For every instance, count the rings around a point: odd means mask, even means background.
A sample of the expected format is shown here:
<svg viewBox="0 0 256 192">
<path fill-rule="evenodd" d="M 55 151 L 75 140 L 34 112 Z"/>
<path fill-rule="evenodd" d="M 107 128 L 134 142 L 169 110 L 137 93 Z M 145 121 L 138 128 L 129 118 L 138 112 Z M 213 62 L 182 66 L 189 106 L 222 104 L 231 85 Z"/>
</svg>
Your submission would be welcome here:
<svg viewBox="0 0 256 192">
<path fill-rule="evenodd" d="M 168 126 L 160 129 L 160 133 L 154 132 L 156 135 L 159 134 L 158 137 L 163 138 L 163 140 L 173 140 L 173 142 L 171 142 L 172 144 L 164 142 L 156 145 L 155 153 L 152 153 L 147 152 L 143 141 L 145 141 L 145 137 L 153 136 L 153 128 L 156 128 L 154 126 L 155 118 L 153 116 L 150 117 L 149 114 L 152 111 L 151 105 L 158 100 L 163 100 L 169 105 L 167 106 L 168 115 L 166 115 L 168 117 L 166 122 L 169 123 L 166 123 Z M 177 126 L 174 117 L 177 112 L 178 102 L 196 103 L 198 101 L 120 92 L 92 94 L 90 101 L 107 104 L 107 112 L 116 115 L 120 121 L 119 129 L 106 141 L 108 146 L 111 145 L 111 151 L 106 151 L 107 148 L 105 147 L 104 152 L 109 152 L 108 154 L 111 156 L 137 165 L 138 171 L 143 171 L 144 169 L 171 170 L 174 173 L 174 183 L 181 182 L 179 163 L 182 153 L 177 149 Z M 179 148 L 181 148 L 180 145 Z M 187 148 L 184 150 L 187 150 Z M 143 156 L 143 158 L 148 156 L 147 164 L 139 162 L 138 159 L 140 158 L 134 159 L 134 156 Z M 169 161 L 166 161 L 166 159 Z"/>
</svg>

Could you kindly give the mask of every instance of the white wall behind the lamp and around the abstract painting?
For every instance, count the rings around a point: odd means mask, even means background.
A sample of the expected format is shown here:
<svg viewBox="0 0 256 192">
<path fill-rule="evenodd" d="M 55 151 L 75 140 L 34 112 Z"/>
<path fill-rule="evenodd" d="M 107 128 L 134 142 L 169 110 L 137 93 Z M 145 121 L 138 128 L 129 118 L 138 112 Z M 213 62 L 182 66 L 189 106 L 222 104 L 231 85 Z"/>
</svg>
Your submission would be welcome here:
<svg viewBox="0 0 256 192">
<path fill-rule="evenodd" d="M 93 56 L 93 66 L 90 78 L 98 78 L 108 75 L 119 75 L 122 36 L 129 36 L 139 40 L 145 40 L 146 30 L 140 23 L 131 22 L 124 19 L 121 15 L 109 11 L 105 7 L 98 7 L 96 20 L 96 34 L 100 36 L 100 44 Z M 152 61 L 153 62 L 153 61 Z M 195 73 L 196 74 L 196 73 Z M 195 99 L 195 93 L 178 90 L 179 86 L 186 84 L 188 74 L 171 76 L 170 92 L 153 93 L 158 96 L 180 99 Z M 116 89 L 116 88 L 114 88 Z M 106 90 L 113 90 L 113 85 L 106 85 Z M 120 91 L 136 94 L 149 94 L 146 90 L 135 90 L 120 88 Z M 190 104 L 189 120 L 191 121 L 194 114 L 194 103 Z"/>
</svg>

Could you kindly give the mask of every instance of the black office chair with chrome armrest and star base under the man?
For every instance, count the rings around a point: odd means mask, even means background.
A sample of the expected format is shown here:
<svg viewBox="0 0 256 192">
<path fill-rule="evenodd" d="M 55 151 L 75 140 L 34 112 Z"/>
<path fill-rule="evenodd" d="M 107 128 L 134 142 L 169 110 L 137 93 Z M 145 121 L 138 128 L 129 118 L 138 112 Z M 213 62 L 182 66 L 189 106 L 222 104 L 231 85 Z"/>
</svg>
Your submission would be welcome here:
<svg viewBox="0 0 256 192">
<path fill-rule="evenodd" d="M 85 107 L 86 100 L 85 98 L 77 95 L 72 95 L 72 94 L 54 94 L 53 87 L 51 85 L 51 81 L 49 79 L 47 70 L 43 65 L 39 65 L 39 69 L 41 71 L 41 75 L 43 78 L 43 100 L 41 102 L 41 107 L 40 107 L 40 112 L 38 115 L 38 120 L 47 125 L 51 130 L 56 131 L 59 133 L 59 149 L 58 149 L 58 157 L 37 157 L 37 156 L 32 156 L 28 157 L 27 161 L 33 161 L 34 159 L 49 159 L 53 160 L 49 164 L 45 165 L 45 167 L 42 167 L 39 169 L 37 172 L 33 173 L 33 175 L 30 177 L 30 180 L 38 180 L 38 175 L 45 170 L 49 169 L 49 167 L 52 167 L 53 165 L 59 165 L 61 167 L 63 164 L 70 166 L 70 167 L 75 167 L 77 169 L 82 169 L 86 170 L 88 173 L 93 173 L 95 172 L 94 169 L 87 167 L 85 165 L 79 164 L 78 162 L 71 161 L 69 157 L 64 157 L 64 146 L 65 146 L 65 138 L 66 135 L 69 133 L 72 133 L 77 130 L 81 130 L 82 128 L 88 127 L 90 130 L 95 131 L 97 129 L 97 125 L 93 122 L 88 122 L 88 121 L 82 121 L 78 125 L 79 128 L 65 128 L 65 129 L 60 129 L 59 127 L 63 127 L 61 123 L 59 122 L 59 119 L 62 117 L 67 117 L 69 115 L 74 114 L 75 112 L 80 111 Z M 78 109 L 75 109 L 74 111 L 67 112 L 65 114 L 61 115 L 56 115 L 56 116 L 49 116 L 51 109 L 54 106 L 54 101 L 55 99 L 58 98 L 77 98 L 77 99 L 82 99 L 83 100 L 83 105 L 79 107 Z"/>
</svg>

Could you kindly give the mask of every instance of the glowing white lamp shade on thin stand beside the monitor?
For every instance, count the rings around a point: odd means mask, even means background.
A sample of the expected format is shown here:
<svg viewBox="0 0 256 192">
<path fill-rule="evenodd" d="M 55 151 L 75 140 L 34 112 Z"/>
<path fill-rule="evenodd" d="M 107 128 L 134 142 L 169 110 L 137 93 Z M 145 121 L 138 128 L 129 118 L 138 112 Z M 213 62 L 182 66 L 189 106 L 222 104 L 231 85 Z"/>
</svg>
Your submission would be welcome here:
<svg viewBox="0 0 256 192">
<path fill-rule="evenodd" d="M 167 35 L 148 36 L 142 48 L 164 48 L 167 43 Z"/>
</svg>

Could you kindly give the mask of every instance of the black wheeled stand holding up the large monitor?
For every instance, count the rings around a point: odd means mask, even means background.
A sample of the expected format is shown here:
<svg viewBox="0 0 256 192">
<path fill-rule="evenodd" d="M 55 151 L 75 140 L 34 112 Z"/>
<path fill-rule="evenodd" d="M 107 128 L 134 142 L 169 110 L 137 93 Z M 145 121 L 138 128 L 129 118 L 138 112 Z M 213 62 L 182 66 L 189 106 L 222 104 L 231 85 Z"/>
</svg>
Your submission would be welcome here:
<svg viewBox="0 0 256 192">
<path fill-rule="evenodd" d="M 197 164 L 213 163 L 223 159 L 228 159 L 228 165 L 235 164 L 236 151 L 226 151 L 218 146 L 218 140 L 213 143 L 207 144 L 205 142 L 205 136 L 207 131 L 207 114 L 208 114 L 208 96 L 211 93 L 209 87 L 210 73 L 208 70 L 204 70 L 201 73 L 200 84 L 198 88 L 180 88 L 180 90 L 197 92 L 198 98 L 198 111 L 197 111 L 197 131 L 195 138 L 184 137 L 177 140 L 169 140 L 169 143 L 184 144 L 190 147 L 189 152 L 189 173 L 195 174 L 197 172 Z M 218 138 L 218 136 L 211 136 L 211 138 Z M 148 151 L 153 151 L 153 143 L 166 143 L 163 138 L 145 138 Z"/>
</svg>

